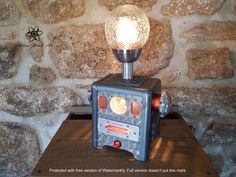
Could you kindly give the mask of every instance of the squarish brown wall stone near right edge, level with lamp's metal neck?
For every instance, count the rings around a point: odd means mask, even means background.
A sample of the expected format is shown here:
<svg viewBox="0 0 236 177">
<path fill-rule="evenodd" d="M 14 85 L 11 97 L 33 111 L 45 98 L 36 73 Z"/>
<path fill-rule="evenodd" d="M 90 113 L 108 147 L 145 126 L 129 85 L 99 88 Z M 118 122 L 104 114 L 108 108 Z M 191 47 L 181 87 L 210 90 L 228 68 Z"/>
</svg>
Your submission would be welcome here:
<svg viewBox="0 0 236 177">
<path fill-rule="evenodd" d="M 186 52 L 190 79 L 227 78 L 233 76 L 228 48 L 189 49 Z"/>
</svg>

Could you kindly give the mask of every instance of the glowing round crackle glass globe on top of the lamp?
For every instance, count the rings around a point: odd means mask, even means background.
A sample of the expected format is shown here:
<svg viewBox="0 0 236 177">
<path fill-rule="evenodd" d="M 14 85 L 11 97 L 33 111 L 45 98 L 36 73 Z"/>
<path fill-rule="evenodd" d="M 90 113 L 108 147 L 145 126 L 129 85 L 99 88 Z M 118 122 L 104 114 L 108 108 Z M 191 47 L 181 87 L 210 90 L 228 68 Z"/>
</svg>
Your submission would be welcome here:
<svg viewBox="0 0 236 177">
<path fill-rule="evenodd" d="M 147 15 L 134 5 L 115 8 L 105 21 L 106 39 L 112 49 L 142 48 L 148 40 L 149 31 Z"/>
</svg>

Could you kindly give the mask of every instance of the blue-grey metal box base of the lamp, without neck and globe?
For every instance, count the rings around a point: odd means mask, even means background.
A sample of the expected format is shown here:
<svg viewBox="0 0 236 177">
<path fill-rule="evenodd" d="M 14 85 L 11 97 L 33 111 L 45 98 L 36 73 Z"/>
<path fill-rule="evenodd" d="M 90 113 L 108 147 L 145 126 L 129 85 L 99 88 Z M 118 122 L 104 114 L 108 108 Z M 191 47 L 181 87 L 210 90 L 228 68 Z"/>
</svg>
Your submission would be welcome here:
<svg viewBox="0 0 236 177">
<path fill-rule="evenodd" d="M 92 86 L 93 147 L 126 150 L 141 161 L 148 159 L 151 143 L 159 134 L 159 111 L 152 99 L 161 91 L 157 78 L 134 76 L 125 80 L 111 74 Z"/>
</svg>

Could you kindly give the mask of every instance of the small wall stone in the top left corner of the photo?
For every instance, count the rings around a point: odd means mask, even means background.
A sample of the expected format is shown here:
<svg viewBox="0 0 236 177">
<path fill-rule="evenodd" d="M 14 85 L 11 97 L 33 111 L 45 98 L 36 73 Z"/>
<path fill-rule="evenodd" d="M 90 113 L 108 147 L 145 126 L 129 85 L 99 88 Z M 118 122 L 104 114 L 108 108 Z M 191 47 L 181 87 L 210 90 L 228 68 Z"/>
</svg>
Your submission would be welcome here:
<svg viewBox="0 0 236 177">
<path fill-rule="evenodd" d="M 17 25 L 20 14 L 12 1 L 0 0 L 0 26 Z"/>
</svg>

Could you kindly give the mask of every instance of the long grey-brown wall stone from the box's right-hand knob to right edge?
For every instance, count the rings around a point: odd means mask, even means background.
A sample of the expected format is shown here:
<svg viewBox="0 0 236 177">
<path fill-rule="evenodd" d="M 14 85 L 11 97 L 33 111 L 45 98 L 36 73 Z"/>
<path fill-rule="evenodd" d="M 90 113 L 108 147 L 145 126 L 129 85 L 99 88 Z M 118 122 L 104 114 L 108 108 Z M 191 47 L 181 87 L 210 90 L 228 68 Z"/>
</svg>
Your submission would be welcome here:
<svg viewBox="0 0 236 177">
<path fill-rule="evenodd" d="M 236 116 L 236 88 L 168 87 L 173 107 L 183 115 Z"/>
</svg>

